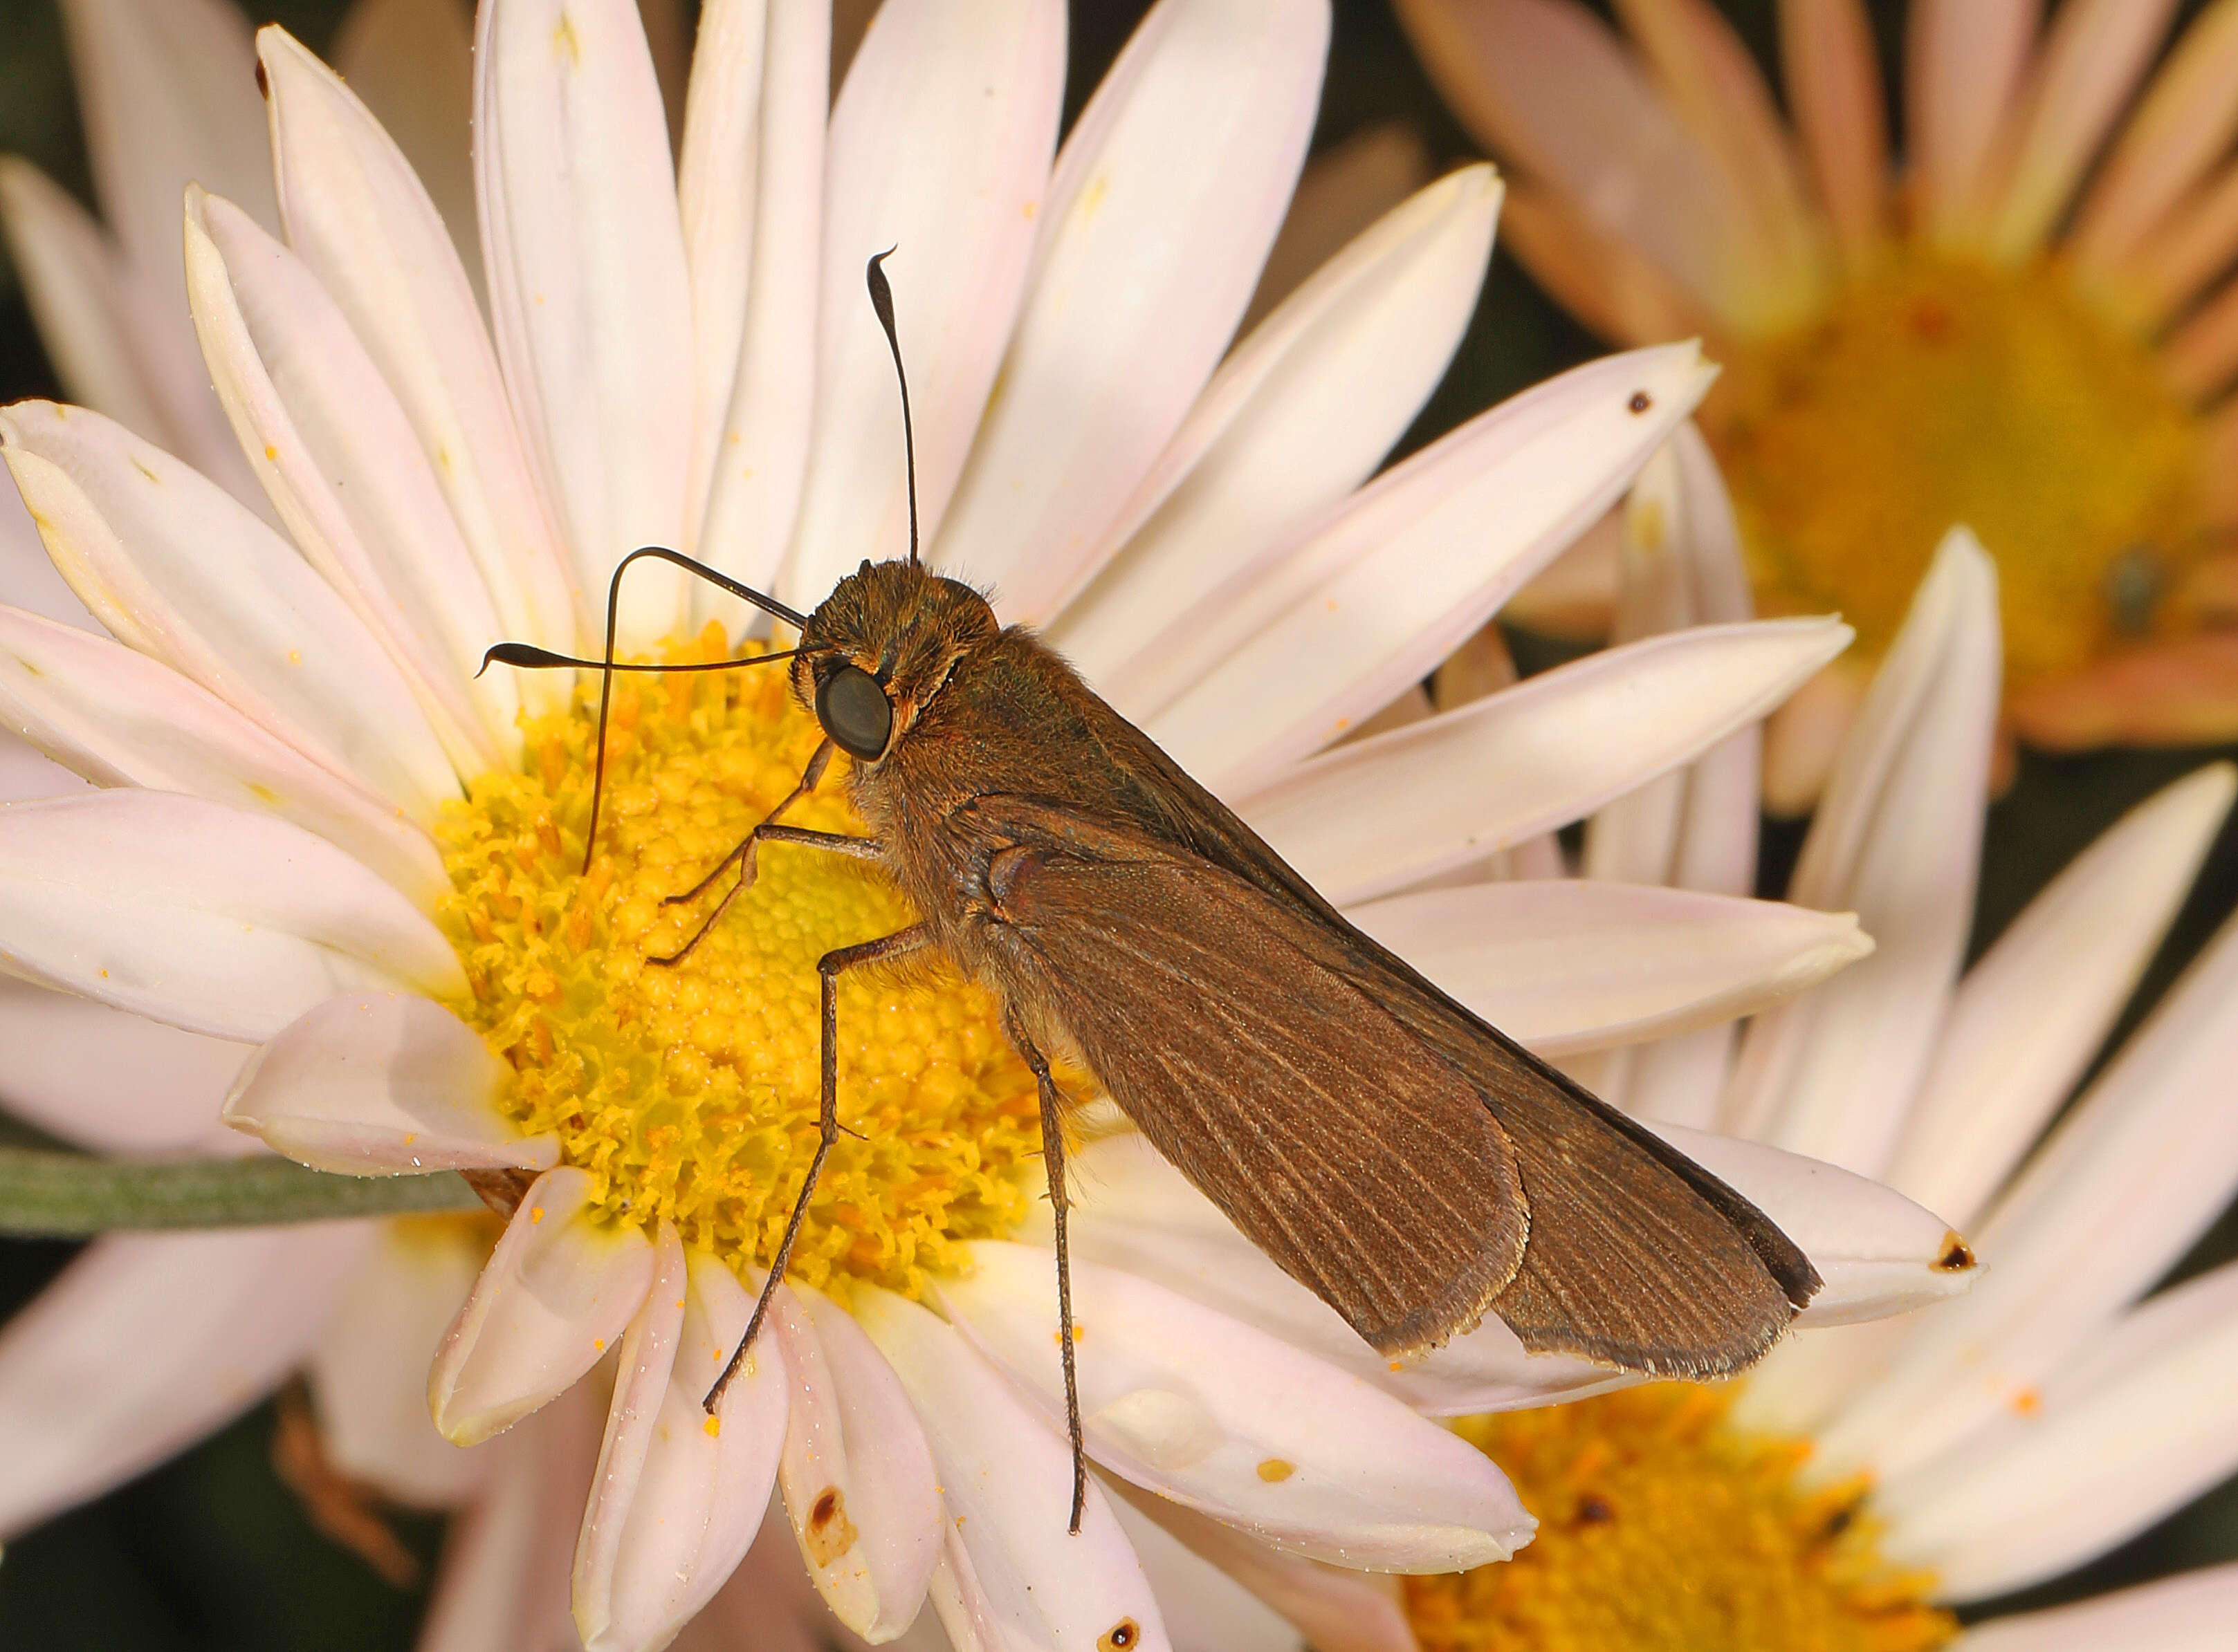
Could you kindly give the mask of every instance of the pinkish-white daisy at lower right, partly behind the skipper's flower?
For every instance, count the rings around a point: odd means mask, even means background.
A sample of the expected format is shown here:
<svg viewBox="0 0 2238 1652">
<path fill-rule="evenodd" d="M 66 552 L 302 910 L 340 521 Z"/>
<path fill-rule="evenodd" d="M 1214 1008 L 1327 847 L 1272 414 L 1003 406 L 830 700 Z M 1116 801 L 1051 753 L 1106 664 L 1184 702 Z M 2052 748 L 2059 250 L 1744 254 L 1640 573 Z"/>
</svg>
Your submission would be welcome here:
<svg viewBox="0 0 2238 1652">
<path fill-rule="evenodd" d="M 1634 488 L 1629 531 L 1632 631 L 1685 625 L 1739 578 L 1690 434 Z M 1461 1424 L 1542 1524 L 1506 1567 L 1408 1580 L 1421 1648 L 2227 1639 L 2229 1569 L 1965 1634 L 1945 1609 L 2070 1571 L 2238 1468 L 2238 1265 L 2155 1292 L 2238 1189 L 2238 922 L 2061 1115 L 2238 777 L 2213 763 L 2140 804 L 1960 972 L 1996 703 L 1994 573 L 1956 531 L 1790 889 L 1858 911 L 1875 954 L 1746 1036 L 1643 1043 L 1593 1074 L 1663 1128 L 1714 1126 L 1887 1180 L 1974 1236 L 1981 1283 L 1902 1321 L 1795 1339 L 1725 1390 Z M 1714 763 L 1670 775 L 1593 817 L 1587 866 L 1705 882 L 1703 844 L 1752 833 L 1746 797 Z M 1405 1645 L 1394 1623 L 1381 1603 L 1314 1643 Z"/>
</svg>

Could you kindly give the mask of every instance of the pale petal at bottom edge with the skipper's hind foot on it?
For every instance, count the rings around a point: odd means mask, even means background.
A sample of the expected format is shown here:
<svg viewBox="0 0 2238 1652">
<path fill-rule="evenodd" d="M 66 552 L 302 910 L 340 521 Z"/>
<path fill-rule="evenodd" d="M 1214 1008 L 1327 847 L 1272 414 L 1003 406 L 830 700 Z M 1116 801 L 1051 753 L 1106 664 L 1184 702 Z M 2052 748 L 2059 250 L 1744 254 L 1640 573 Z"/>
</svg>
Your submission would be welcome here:
<svg viewBox="0 0 2238 1652">
<path fill-rule="evenodd" d="M 1090 1648 L 1132 1621 L 1128 1645 L 1170 1652 L 1150 1585 L 1097 1484 L 1079 1536 L 1065 1531 L 1072 1451 L 1041 1408 L 902 1296 L 857 1285 L 855 1318 L 893 1361 L 933 1448 L 956 1531 L 947 1569 L 962 1571 L 949 1607 L 958 1596 L 976 1607 L 971 1616 L 1000 1636 L 987 1645 Z M 942 1605 L 938 1574 L 933 1603 Z"/>
</svg>

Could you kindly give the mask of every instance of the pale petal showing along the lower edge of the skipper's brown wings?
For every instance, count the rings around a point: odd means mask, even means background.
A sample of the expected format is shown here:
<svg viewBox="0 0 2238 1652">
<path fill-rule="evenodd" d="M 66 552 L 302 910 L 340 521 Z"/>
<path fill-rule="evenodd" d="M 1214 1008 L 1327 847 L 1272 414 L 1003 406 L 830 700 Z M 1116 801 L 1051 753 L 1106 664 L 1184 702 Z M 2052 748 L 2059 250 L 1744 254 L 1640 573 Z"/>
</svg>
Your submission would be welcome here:
<svg viewBox="0 0 2238 1652">
<path fill-rule="evenodd" d="M 1188 1180 L 1139 1135 L 1117 1135 L 1074 1153 L 1074 1260 L 1101 1263 L 1164 1285 L 1226 1318 L 1253 1325 L 1323 1365 L 1352 1372 L 1414 1410 L 1457 1417 L 1513 1406 L 1544 1406 L 1636 1381 L 1607 1365 L 1560 1354 L 1526 1354 L 1497 1318 L 1455 1336 L 1412 1365 L 1394 1365 L 1334 1307 L 1285 1274 L 1247 1240 Z M 1054 1247 L 1047 1207 L 1036 1207 L 1018 1238 Z"/>
</svg>

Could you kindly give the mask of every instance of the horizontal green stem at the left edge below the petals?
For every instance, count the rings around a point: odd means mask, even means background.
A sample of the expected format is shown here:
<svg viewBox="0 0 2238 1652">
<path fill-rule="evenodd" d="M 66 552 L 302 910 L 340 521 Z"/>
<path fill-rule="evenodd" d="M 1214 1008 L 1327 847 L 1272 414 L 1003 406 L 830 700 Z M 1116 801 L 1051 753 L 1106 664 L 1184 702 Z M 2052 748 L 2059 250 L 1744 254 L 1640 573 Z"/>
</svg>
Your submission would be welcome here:
<svg viewBox="0 0 2238 1652">
<path fill-rule="evenodd" d="M 130 1164 L 85 1153 L 0 1148 L 0 1233 L 16 1238 L 479 1209 L 481 1200 L 450 1171 L 327 1175 L 289 1160 Z"/>
</svg>

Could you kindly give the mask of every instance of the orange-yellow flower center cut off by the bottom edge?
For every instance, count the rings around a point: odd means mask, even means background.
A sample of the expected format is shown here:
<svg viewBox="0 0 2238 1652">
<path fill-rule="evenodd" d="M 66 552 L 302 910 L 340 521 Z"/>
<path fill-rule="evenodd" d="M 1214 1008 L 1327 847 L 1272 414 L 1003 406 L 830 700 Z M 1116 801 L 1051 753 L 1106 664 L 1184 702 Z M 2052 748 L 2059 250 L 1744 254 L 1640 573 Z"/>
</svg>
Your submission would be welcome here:
<svg viewBox="0 0 2238 1652">
<path fill-rule="evenodd" d="M 1540 1518 L 1506 1565 L 1405 1580 L 1423 1652 L 1929 1652 L 1958 1625 L 1893 1571 L 1864 1484 L 1804 1491 L 1808 1446 L 1658 1383 L 1473 1417 L 1464 1439 Z"/>
</svg>

